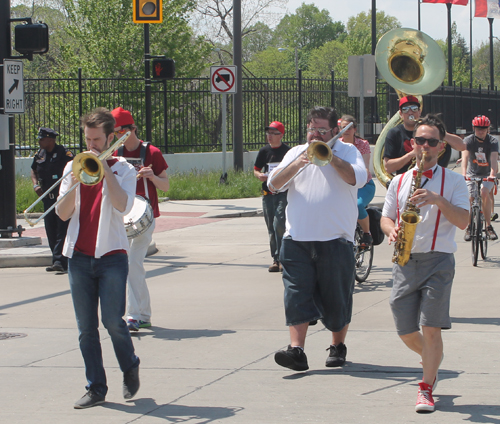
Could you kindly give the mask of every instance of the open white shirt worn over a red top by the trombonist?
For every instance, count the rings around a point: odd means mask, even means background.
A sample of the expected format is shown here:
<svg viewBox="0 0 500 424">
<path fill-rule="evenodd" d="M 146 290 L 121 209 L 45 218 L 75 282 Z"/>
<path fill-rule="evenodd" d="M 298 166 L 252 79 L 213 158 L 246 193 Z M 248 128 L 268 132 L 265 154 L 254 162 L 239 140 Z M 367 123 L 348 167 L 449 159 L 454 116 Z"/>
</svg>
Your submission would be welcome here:
<svg viewBox="0 0 500 424">
<path fill-rule="evenodd" d="M 115 174 L 120 187 L 127 193 L 127 206 L 125 208 L 125 211 L 123 212 L 120 212 L 113 207 L 109 198 L 106 178 L 104 178 L 102 182 L 102 198 L 100 201 L 100 210 L 97 214 L 98 219 L 95 221 L 88 221 L 93 222 L 93 224 L 89 225 L 98 226 L 94 252 L 95 258 L 100 258 L 106 253 L 116 250 L 129 250 L 129 243 L 127 234 L 125 232 L 125 225 L 123 224 L 123 217 L 130 212 L 134 203 L 135 188 L 137 184 L 137 172 L 135 171 L 134 167 L 130 165 L 124 158 L 113 158 L 113 161 L 114 163 L 110 165 L 110 167 Z M 68 162 L 64 169 L 64 173 L 71 171 L 72 166 L 73 161 Z M 68 175 L 61 183 L 59 198 L 69 190 L 70 186 L 71 175 Z M 91 234 L 92 232 L 95 232 L 95 228 L 84 228 L 82 229 L 82 231 L 80 231 L 80 207 L 82 197 L 81 187 L 78 186 L 75 191 L 75 211 L 71 216 L 71 221 L 68 226 L 68 232 L 66 234 L 63 249 L 63 255 L 67 256 L 68 258 L 71 258 L 73 256 L 73 251 L 75 250 L 75 245 L 79 237 L 84 236 L 87 233 Z M 80 240 L 80 242 L 81 241 L 82 240 Z"/>
</svg>

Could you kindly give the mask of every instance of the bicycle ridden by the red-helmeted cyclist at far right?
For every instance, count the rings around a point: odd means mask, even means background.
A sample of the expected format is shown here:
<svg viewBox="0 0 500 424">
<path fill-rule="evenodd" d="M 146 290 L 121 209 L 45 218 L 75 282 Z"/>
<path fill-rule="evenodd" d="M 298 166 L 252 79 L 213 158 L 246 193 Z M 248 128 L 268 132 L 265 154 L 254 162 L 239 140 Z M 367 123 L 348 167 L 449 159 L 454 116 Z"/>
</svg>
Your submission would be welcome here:
<svg viewBox="0 0 500 424">
<path fill-rule="evenodd" d="M 492 179 L 481 177 L 465 177 L 465 179 L 476 183 L 472 195 L 469 230 L 472 243 L 472 266 L 477 266 L 479 250 L 481 250 L 483 260 L 486 259 L 488 254 L 488 231 L 482 211 L 481 185 L 483 181 L 492 181 Z"/>
</svg>

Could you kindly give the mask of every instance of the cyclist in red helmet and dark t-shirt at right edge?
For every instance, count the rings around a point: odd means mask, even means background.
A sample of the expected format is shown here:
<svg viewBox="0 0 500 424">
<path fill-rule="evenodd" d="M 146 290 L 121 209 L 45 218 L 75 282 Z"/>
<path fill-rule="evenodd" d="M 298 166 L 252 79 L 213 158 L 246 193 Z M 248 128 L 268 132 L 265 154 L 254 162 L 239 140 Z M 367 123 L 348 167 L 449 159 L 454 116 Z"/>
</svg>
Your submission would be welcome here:
<svg viewBox="0 0 500 424">
<path fill-rule="evenodd" d="M 482 177 L 495 179 L 498 172 L 498 141 L 488 134 L 490 120 L 487 116 L 478 115 L 472 120 L 474 133 L 464 139 L 466 150 L 462 152 L 462 174 L 464 177 Z M 474 181 L 467 181 L 470 201 L 474 195 Z M 491 197 L 494 189 L 493 181 L 483 181 L 481 199 L 483 204 L 486 232 L 490 240 L 497 240 L 498 236 L 491 226 Z M 470 241 L 470 227 L 465 229 L 465 241 Z"/>
</svg>

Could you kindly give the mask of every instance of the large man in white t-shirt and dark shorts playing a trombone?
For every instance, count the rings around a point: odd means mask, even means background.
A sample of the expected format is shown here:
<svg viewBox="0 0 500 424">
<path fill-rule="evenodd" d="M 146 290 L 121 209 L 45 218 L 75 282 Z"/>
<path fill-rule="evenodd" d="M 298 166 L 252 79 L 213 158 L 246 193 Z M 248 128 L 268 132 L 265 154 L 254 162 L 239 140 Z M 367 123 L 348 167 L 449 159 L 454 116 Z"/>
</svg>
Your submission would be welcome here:
<svg viewBox="0 0 500 424">
<path fill-rule="evenodd" d="M 309 323 L 318 319 L 332 332 L 326 366 L 342 366 L 347 354 L 357 192 L 366 183 L 366 167 L 358 149 L 341 141 L 331 148 L 326 166 L 308 166 L 305 155 L 312 142 L 333 138 L 337 119 L 332 108 L 313 108 L 307 117 L 307 143 L 291 149 L 268 179 L 271 190 L 288 190 L 280 263 L 290 345 L 276 352 L 275 361 L 295 371 L 309 368 L 305 339 Z"/>
</svg>

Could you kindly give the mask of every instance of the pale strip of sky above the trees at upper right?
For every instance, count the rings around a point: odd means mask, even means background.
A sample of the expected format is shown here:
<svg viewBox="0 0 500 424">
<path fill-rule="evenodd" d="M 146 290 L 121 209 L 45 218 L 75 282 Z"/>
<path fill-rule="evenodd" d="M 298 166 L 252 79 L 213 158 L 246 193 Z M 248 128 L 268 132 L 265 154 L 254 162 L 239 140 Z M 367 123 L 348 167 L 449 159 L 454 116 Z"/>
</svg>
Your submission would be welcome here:
<svg viewBox="0 0 500 424">
<path fill-rule="evenodd" d="M 474 18 L 474 0 L 472 5 L 472 47 L 481 43 L 489 44 L 490 26 L 487 18 Z M 469 1 L 469 3 L 470 3 Z M 368 12 L 372 0 L 288 0 L 287 11 L 292 14 L 302 3 L 314 4 L 320 10 L 330 12 L 333 21 L 347 24 L 351 16 Z M 418 29 L 418 0 L 377 0 L 377 11 L 397 18 L 403 27 Z M 348 7 L 347 7 L 348 6 Z M 421 3 L 420 30 L 435 40 L 445 40 L 448 36 L 448 9 L 445 4 Z M 451 7 L 451 20 L 457 23 L 459 33 L 470 44 L 470 5 Z M 493 21 L 493 35 L 500 38 L 500 19 Z"/>
</svg>

